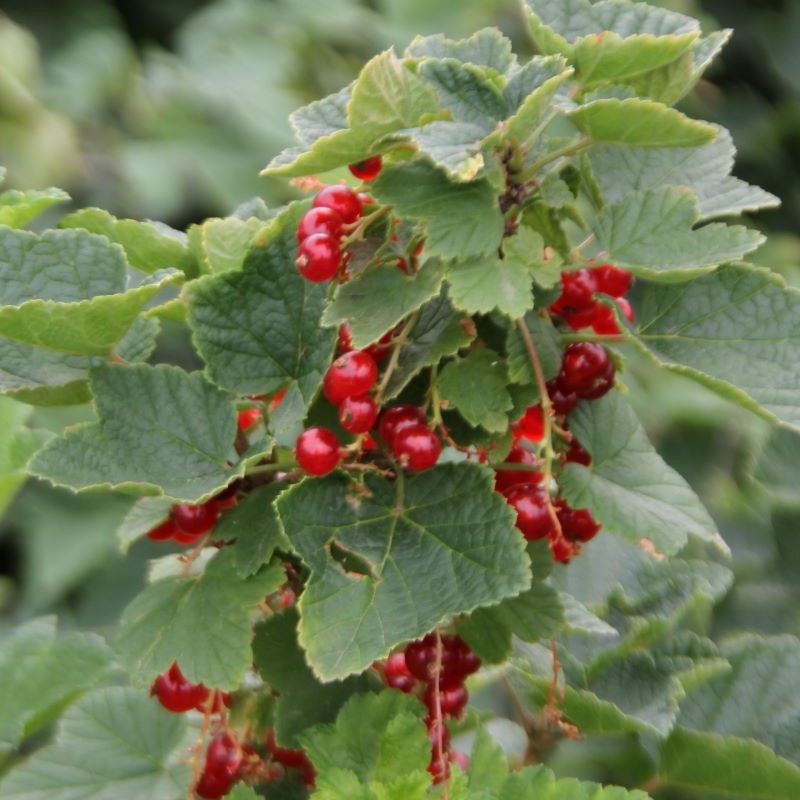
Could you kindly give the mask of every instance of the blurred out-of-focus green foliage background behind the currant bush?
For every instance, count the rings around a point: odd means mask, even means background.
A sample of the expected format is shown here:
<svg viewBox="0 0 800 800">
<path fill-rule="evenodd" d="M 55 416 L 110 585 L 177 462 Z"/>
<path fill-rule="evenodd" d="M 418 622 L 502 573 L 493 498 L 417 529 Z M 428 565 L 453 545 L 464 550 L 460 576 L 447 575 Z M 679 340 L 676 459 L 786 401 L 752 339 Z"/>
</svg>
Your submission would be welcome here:
<svg viewBox="0 0 800 800">
<path fill-rule="evenodd" d="M 661 5 L 700 16 L 707 30 L 735 28 L 720 64 L 682 107 L 728 127 L 739 151 L 734 174 L 782 199 L 780 209 L 752 220 L 770 236 L 754 260 L 800 285 L 800 5 Z M 370 56 L 417 33 L 460 36 L 496 24 L 518 53 L 530 53 L 517 6 L 516 0 L 6 0 L 0 163 L 9 170 L 7 186 L 58 185 L 76 207 L 96 205 L 179 228 L 229 213 L 253 195 L 285 201 L 286 184 L 258 172 L 289 144 L 289 112 L 338 89 Z M 158 353 L 194 366 L 178 329 L 166 326 Z M 793 479 L 800 438 L 772 434 L 697 384 L 656 376 L 644 363 L 625 380 L 635 384 L 630 397 L 653 442 L 700 494 L 733 552 L 732 590 L 713 609 L 697 604 L 694 629 L 720 643 L 743 632 L 800 633 L 800 488 Z M 4 422 L 16 413 L 18 407 L 0 402 L 0 468 L 21 463 L 21 451 L 37 444 L 4 440 Z M 81 407 L 33 413 L 32 427 L 51 431 L 91 418 Z M 11 476 L 0 483 L 0 635 L 46 613 L 81 630 L 113 626 L 143 584 L 147 560 L 164 550 L 148 542 L 124 557 L 117 553 L 113 531 L 130 498 L 75 496 L 20 482 Z M 492 707 L 494 700 L 487 694 L 478 703 Z M 632 785 L 637 757 L 624 737 L 608 737 L 562 744 L 549 763 L 560 774 Z"/>
</svg>

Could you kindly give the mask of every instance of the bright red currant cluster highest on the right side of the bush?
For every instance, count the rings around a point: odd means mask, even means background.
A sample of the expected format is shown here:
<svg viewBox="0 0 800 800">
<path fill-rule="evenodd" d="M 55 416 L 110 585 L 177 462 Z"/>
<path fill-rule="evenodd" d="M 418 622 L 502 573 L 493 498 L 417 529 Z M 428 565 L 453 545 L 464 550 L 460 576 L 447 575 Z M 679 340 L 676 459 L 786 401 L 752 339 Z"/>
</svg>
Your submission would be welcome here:
<svg viewBox="0 0 800 800">
<path fill-rule="evenodd" d="M 595 299 L 595 293 L 614 298 L 622 316 L 633 322 L 633 309 L 624 295 L 631 285 L 631 274 L 619 267 L 579 269 L 561 274 L 561 295 L 550 306 L 573 330 L 591 328 L 595 333 L 614 335 L 619 325 L 611 309 Z"/>
</svg>

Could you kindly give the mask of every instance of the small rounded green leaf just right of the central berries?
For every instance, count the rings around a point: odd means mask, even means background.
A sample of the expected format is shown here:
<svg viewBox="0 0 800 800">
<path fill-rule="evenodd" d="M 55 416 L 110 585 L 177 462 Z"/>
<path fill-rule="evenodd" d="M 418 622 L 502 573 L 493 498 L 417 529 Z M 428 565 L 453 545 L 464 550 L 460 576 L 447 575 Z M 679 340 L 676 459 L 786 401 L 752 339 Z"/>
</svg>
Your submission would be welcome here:
<svg viewBox="0 0 800 800">
<path fill-rule="evenodd" d="M 455 408 L 470 425 L 502 433 L 508 428 L 507 412 L 513 405 L 507 383 L 503 358 L 481 348 L 446 364 L 436 386 L 440 400 Z"/>
</svg>

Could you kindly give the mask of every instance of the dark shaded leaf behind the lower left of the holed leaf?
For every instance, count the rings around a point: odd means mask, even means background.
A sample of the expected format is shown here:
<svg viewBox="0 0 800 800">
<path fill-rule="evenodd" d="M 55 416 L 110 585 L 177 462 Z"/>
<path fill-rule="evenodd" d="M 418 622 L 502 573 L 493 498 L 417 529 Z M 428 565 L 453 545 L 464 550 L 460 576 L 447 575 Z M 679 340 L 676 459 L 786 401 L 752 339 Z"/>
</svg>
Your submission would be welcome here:
<svg viewBox="0 0 800 800">
<path fill-rule="evenodd" d="M 306 664 L 297 643 L 295 609 L 275 614 L 256 626 L 253 657 L 261 677 L 278 694 L 275 735 L 284 747 L 297 747 L 297 736 L 312 725 L 333 722 L 339 709 L 356 692 L 368 691 L 365 676 L 320 683 Z"/>
</svg>

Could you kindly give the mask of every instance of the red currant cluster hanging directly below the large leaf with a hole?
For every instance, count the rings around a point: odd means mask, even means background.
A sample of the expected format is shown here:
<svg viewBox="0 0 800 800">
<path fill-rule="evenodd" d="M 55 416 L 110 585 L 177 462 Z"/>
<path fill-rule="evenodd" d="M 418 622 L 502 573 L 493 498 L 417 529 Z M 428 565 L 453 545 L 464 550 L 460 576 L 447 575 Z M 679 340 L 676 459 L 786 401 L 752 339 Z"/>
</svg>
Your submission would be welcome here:
<svg viewBox="0 0 800 800">
<path fill-rule="evenodd" d="M 425 717 L 431 742 L 428 771 L 435 783 L 447 780 L 451 761 L 466 766 L 463 756 L 450 750 L 446 720 L 462 716 L 469 699 L 464 682 L 480 666 L 481 660 L 460 636 L 436 633 L 411 642 L 405 651 L 394 653 L 383 664 L 387 686 L 418 694 L 428 709 Z"/>
</svg>

